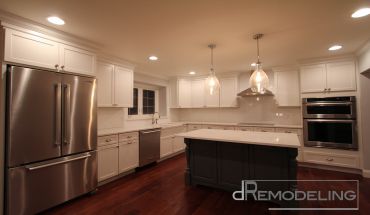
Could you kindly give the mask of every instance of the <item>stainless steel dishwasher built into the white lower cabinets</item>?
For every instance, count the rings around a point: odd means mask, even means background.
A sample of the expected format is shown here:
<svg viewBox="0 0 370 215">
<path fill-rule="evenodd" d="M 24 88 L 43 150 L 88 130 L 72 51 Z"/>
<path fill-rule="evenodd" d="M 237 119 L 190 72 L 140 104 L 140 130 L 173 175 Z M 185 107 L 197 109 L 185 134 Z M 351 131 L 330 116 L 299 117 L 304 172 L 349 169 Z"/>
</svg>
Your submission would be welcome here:
<svg viewBox="0 0 370 215">
<path fill-rule="evenodd" d="M 140 131 L 139 166 L 156 162 L 160 158 L 161 129 Z"/>
</svg>

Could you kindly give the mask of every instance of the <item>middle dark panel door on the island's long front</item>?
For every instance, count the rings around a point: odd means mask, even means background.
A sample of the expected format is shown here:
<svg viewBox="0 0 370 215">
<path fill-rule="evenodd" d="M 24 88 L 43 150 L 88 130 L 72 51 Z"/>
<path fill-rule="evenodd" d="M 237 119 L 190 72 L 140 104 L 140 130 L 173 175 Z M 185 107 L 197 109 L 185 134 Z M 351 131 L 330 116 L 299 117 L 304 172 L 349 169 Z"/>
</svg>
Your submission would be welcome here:
<svg viewBox="0 0 370 215">
<path fill-rule="evenodd" d="M 238 190 L 242 180 L 249 179 L 249 154 L 247 145 L 219 143 L 219 184 L 227 190 Z"/>
</svg>

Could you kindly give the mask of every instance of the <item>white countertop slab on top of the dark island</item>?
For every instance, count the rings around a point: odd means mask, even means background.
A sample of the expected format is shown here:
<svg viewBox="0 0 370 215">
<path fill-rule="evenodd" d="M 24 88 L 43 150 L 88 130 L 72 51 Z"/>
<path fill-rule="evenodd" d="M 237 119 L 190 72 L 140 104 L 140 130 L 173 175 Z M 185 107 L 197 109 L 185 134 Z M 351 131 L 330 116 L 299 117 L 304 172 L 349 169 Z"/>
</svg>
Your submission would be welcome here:
<svg viewBox="0 0 370 215">
<path fill-rule="evenodd" d="M 298 135 L 293 133 L 199 129 L 195 131 L 180 133 L 176 136 L 189 139 L 211 140 L 230 143 L 289 148 L 300 147 Z"/>
</svg>

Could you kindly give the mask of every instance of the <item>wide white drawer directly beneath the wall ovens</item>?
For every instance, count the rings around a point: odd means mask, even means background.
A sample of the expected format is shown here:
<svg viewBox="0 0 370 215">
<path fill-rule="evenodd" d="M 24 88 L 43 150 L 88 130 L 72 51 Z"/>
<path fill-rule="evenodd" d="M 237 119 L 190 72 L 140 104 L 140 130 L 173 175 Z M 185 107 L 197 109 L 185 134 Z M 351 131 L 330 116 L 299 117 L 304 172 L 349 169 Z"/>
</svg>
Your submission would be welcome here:
<svg viewBox="0 0 370 215">
<path fill-rule="evenodd" d="M 327 154 L 320 152 L 304 152 L 304 161 L 309 163 L 358 168 L 359 160 L 355 156 L 351 155 L 340 155 L 340 154 Z"/>
</svg>

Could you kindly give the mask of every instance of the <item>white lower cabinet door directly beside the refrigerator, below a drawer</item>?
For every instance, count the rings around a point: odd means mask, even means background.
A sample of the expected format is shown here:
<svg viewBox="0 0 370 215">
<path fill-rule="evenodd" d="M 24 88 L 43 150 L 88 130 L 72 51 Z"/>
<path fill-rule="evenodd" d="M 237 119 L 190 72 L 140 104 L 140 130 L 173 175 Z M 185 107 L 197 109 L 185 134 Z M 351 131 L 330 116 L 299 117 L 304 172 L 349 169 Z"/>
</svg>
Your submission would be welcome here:
<svg viewBox="0 0 370 215">
<path fill-rule="evenodd" d="M 98 181 L 118 175 L 118 145 L 98 148 Z"/>
</svg>

